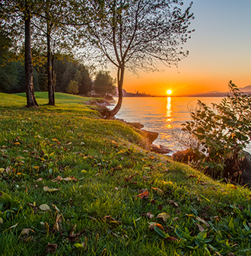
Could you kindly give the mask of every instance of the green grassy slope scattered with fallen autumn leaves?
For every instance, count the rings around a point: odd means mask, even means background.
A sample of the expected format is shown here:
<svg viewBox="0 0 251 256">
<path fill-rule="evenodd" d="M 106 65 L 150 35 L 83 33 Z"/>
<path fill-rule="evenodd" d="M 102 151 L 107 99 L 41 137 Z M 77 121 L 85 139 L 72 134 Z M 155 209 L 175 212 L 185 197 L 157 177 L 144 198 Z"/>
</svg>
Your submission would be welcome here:
<svg viewBox="0 0 251 256">
<path fill-rule="evenodd" d="M 27 109 L 25 94 L 0 94 L 2 255 L 251 254 L 250 190 L 147 151 L 139 131 L 101 119 L 88 98 L 56 93 L 51 107 L 36 97 Z"/>
</svg>

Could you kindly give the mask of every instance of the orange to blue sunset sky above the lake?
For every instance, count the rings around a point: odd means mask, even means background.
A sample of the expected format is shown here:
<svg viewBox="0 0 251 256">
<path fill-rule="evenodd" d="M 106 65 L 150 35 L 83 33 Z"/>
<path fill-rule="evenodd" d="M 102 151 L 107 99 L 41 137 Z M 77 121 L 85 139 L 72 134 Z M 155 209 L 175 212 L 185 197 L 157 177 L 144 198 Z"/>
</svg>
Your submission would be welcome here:
<svg viewBox="0 0 251 256">
<path fill-rule="evenodd" d="M 189 5 L 189 1 L 184 1 Z M 195 29 L 183 47 L 189 56 L 179 68 L 164 72 L 141 72 L 139 78 L 127 72 L 123 88 L 173 95 L 227 91 L 232 80 L 238 87 L 251 85 L 251 0 L 194 0 Z M 112 73 L 116 77 L 116 72 Z"/>
</svg>

